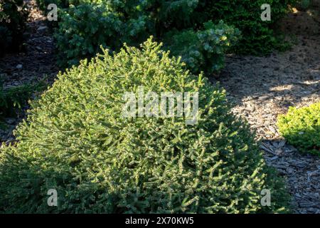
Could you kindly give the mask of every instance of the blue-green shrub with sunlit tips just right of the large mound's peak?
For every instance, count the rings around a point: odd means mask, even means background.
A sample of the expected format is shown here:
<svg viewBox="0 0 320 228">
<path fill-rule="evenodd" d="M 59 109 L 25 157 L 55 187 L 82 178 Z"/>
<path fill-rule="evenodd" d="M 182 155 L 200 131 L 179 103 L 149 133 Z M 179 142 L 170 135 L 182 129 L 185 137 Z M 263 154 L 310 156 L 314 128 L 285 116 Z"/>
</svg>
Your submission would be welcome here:
<svg viewBox="0 0 320 228">
<path fill-rule="evenodd" d="M 206 74 L 219 72 L 225 64 L 225 52 L 237 43 L 238 29 L 212 21 L 204 24 L 203 31 L 169 32 L 164 38 L 166 48 L 173 56 L 181 56 L 193 73 L 205 71 Z"/>
</svg>

